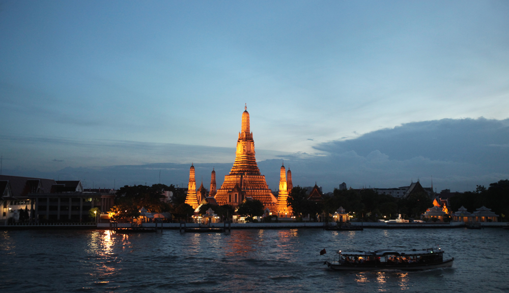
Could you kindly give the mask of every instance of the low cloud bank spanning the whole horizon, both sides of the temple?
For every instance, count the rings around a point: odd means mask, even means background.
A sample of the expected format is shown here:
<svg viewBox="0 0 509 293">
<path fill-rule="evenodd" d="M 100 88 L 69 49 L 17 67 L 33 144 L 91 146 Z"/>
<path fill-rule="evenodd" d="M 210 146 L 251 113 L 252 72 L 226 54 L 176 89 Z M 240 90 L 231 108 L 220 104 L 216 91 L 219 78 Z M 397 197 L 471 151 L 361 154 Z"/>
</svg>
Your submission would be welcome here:
<svg viewBox="0 0 509 293">
<path fill-rule="evenodd" d="M 259 138 L 258 140 L 264 140 Z M 0 137 L 0 141 L 15 147 L 24 146 L 30 154 L 28 139 Z M 255 143 L 257 140 L 255 140 Z M 40 144 L 41 140 L 33 141 Z M 60 152 L 62 140 L 44 141 L 47 150 Z M 232 142 L 234 144 L 234 142 Z M 66 144 L 76 144 L 67 141 Z M 40 149 L 40 147 L 37 147 Z M 425 187 L 433 186 L 452 191 L 474 190 L 476 185 L 485 185 L 509 178 L 509 119 L 442 119 L 405 123 L 394 128 L 385 128 L 364 134 L 356 139 L 337 140 L 315 145 L 320 155 L 285 153 L 257 149 L 260 171 L 266 176 L 269 188 L 276 190 L 279 181 L 281 160 L 292 170 L 294 185 L 310 186 L 315 182 L 323 186 L 325 192 L 332 191 L 342 182 L 349 187 L 399 187 L 420 180 Z M 76 155 L 69 167 L 73 151 L 87 151 L 86 155 Z M 108 150 L 108 151 L 105 151 Z M 217 174 L 217 184 L 221 184 L 228 174 L 235 158 L 234 148 L 207 146 L 186 146 L 172 144 L 119 142 L 80 142 L 66 156 L 56 153 L 45 154 L 47 161 L 62 166 L 47 170 L 35 169 L 35 161 L 41 158 L 27 158 L 23 164 L 4 161 L 4 173 L 18 176 L 35 176 L 63 180 L 81 179 L 88 187 L 112 188 L 132 184 L 161 183 L 187 186 L 190 162 L 196 168 L 196 181 L 203 178 L 204 186 L 209 187 L 212 168 Z M 115 154 L 112 159 L 111 156 Z M 110 164 L 118 162 L 122 156 L 127 161 L 138 160 L 139 164 Z M 4 153 L 4 157 L 5 153 Z M 89 161 L 79 165 L 79 159 Z M 193 159 L 193 157 L 195 159 Z M 71 159 L 69 159 L 71 158 Z M 151 158 L 147 161 L 147 158 Z M 173 160 L 172 162 L 163 162 Z M 157 160 L 159 160 L 157 162 Z M 32 162 L 32 164 L 31 164 Z M 91 165 L 90 163 L 97 163 Z M 99 164 L 102 162 L 103 164 Z M 41 162 L 44 166 L 46 162 Z M 113 165 L 113 166 L 112 166 Z"/>
</svg>

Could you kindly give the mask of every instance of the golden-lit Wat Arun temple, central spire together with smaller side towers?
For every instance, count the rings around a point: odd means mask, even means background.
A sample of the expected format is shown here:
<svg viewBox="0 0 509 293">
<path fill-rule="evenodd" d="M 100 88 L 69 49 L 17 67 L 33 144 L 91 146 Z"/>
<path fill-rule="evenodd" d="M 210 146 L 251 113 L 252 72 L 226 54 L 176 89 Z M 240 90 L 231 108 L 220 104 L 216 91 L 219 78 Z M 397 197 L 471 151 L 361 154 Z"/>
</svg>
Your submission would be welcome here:
<svg viewBox="0 0 509 293">
<path fill-rule="evenodd" d="M 293 187 L 292 172 L 288 170 L 287 173 L 285 166 L 281 166 L 279 193 L 276 199 L 265 181 L 265 176 L 260 173 L 254 155 L 254 140 L 249 127 L 249 112 L 246 106 L 242 113 L 242 126 L 232 170 L 230 174 L 224 176 L 224 182 L 219 189 L 216 189 L 216 173 L 212 170 L 209 197 L 214 198 L 219 205 L 228 204 L 233 207 L 238 207 L 246 199 L 259 200 L 272 214 L 279 217 L 291 217 L 292 208 L 288 206 L 288 194 Z M 191 165 L 186 204 L 197 209 L 204 200 L 205 193 L 203 183 L 196 190 L 194 166 Z"/>
</svg>

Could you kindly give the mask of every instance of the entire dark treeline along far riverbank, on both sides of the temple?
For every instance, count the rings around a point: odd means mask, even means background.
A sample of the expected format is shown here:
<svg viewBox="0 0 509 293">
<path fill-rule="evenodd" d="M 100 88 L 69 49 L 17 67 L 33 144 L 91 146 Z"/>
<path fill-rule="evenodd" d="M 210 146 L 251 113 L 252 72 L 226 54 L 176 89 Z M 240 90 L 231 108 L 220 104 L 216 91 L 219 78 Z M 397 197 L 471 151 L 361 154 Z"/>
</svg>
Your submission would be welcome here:
<svg viewBox="0 0 509 293">
<path fill-rule="evenodd" d="M 163 191 L 172 191 L 172 202 L 161 201 Z M 433 199 L 426 192 L 411 194 L 406 199 L 393 198 L 387 194 L 378 194 L 373 189 L 339 190 L 334 189 L 331 196 L 324 195 L 323 201 L 307 199 L 306 190 L 300 186 L 294 187 L 288 203 L 292 206 L 297 220 L 309 215 L 317 219 L 321 214 L 328 215 L 343 207 L 354 218 L 365 221 L 395 218 L 398 214 L 408 219 L 418 219 L 420 215 L 433 206 Z M 440 197 L 440 194 L 438 194 Z M 128 220 L 139 215 L 139 209 L 145 207 L 149 212 L 171 212 L 176 219 L 185 219 L 194 212 L 193 208 L 185 203 L 186 194 L 182 189 L 176 189 L 172 184 L 154 184 L 152 186 L 135 185 L 120 188 L 115 196 L 115 206 L 111 209 L 116 220 Z M 509 215 L 509 180 L 500 180 L 491 183 L 488 188 L 477 186 L 475 191 L 457 193 L 449 197 L 449 212 L 456 212 L 464 206 L 469 212 L 486 206 L 501 216 L 499 220 L 506 221 Z M 235 212 L 230 205 L 211 206 L 204 205 L 200 214 L 212 208 L 221 218 L 231 217 Z M 259 216 L 263 214 L 263 205 L 259 201 L 246 202 L 239 206 L 238 214 L 246 216 Z"/>
</svg>

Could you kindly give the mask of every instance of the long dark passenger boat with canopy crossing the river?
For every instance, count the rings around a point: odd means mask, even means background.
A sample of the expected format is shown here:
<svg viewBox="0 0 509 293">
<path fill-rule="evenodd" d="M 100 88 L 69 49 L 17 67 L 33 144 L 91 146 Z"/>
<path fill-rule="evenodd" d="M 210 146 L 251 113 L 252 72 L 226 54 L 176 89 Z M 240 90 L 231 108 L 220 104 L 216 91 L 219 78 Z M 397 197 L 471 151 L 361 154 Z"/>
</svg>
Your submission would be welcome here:
<svg viewBox="0 0 509 293">
<path fill-rule="evenodd" d="M 337 271 L 375 271 L 375 270 L 427 270 L 449 268 L 453 266 L 454 257 L 444 261 L 443 251 L 433 248 L 394 251 L 379 249 L 375 251 L 337 252 L 337 262 L 324 262 L 327 267 Z"/>
</svg>

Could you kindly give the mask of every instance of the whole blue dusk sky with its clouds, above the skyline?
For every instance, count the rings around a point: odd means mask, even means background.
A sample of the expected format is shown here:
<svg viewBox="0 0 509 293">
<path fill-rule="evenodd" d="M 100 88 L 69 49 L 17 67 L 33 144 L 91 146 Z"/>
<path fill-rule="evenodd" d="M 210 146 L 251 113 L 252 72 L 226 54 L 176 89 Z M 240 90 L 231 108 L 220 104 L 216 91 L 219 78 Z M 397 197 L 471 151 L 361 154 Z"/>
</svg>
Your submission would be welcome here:
<svg viewBox="0 0 509 293">
<path fill-rule="evenodd" d="M 2 0 L 0 64 L 6 175 L 219 185 L 247 104 L 273 190 L 509 178 L 507 1 Z"/>
</svg>

